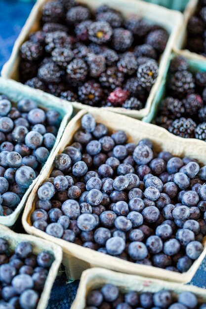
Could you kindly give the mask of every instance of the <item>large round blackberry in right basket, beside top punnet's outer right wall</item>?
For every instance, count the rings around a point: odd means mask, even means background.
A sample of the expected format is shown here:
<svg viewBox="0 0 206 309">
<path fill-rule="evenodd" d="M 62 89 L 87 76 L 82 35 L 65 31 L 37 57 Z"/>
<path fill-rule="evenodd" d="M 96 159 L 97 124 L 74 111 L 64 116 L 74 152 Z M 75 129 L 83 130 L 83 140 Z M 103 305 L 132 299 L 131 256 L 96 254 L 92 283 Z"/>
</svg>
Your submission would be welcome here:
<svg viewBox="0 0 206 309">
<path fill-rule="evenodd" d="M 195 80 L 189 71 L 177 71 L 172 74 L 169 87 L 176 95 L 182 97 L 194 92 Z"/>
</svg>

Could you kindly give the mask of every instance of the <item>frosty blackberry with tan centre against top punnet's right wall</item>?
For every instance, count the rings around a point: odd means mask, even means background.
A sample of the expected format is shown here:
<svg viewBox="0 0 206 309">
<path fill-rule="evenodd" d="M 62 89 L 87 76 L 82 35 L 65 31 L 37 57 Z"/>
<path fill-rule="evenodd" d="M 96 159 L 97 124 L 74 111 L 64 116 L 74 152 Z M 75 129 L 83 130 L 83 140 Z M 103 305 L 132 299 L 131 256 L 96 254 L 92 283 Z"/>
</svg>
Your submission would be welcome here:
<svg viewBox="0 0 206 309">
<path fill-rule="evenodd" d="M 158 65 L 148 61 L 138 67 L 137 77 L 142 87 L 152 87 L 158 77 Z"/>
</svg>

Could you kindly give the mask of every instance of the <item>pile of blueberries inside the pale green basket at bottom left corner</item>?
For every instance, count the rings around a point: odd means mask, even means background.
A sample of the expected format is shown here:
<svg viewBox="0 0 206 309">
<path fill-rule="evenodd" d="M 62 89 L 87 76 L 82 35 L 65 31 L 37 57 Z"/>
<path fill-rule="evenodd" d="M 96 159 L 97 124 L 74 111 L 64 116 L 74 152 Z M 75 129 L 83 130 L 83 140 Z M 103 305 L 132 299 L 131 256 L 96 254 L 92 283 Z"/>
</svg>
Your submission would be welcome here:
<svg viewBox="0 0 206 309">
<path fill-rule="evenodd" d="M 0 309 L 35 309 L 54 257 L 33 253 L 30 242 L 20 242 L 14 252 L 0 238 Z"/>
</svg>

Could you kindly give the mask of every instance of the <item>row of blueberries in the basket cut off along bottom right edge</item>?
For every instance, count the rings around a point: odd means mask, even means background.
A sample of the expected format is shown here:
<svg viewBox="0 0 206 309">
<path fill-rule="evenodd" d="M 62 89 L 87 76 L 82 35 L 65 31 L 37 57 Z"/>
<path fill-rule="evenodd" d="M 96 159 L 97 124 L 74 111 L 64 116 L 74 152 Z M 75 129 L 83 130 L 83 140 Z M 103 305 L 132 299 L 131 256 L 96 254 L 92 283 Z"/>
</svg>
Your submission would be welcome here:
<svg viewBox="0 0 206 309">
<path fill-rule="evenodd" d="M 130 291 L 121 293 L 117 286 L 105 284 L 99 290 L 92 290 L 86 298 L 85 309 L 206 309 L 192 292 L 182 292 L 178 296 L 170 291 L 156 293 Z"/>
</svg>

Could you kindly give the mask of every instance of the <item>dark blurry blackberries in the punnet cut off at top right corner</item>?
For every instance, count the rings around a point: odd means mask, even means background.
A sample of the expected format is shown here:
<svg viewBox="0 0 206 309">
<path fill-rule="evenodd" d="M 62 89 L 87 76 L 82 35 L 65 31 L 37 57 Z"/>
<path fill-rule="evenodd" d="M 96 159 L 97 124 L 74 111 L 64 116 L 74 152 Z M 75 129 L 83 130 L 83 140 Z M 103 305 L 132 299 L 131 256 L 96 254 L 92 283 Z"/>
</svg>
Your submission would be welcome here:
<svg viewBox="0 0 206 309">
<path fill-rule="evenodd" d="M 200 0 L 187 24 L 185 48 L 206 57 L 206 0 Z"/>
</svg>

